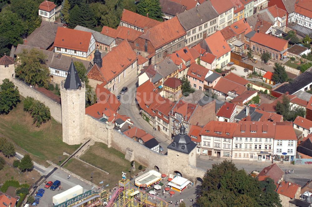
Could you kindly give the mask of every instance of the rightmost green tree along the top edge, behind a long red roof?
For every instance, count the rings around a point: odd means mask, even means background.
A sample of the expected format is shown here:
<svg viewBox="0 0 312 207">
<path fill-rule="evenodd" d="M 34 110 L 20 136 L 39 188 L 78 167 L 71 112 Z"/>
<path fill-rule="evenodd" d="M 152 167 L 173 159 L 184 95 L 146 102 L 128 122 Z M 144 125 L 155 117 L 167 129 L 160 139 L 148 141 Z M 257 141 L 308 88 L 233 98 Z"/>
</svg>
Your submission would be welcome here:
<svg viewBox="0 0 312 207">
<path fill-rule="evenodd" d="M 141 0 L 138 3 L 138 13 L 149 18 L 162 21 L 163 14 L 161 12 L 160 3 L 158 0 Z"/>
</svg>

